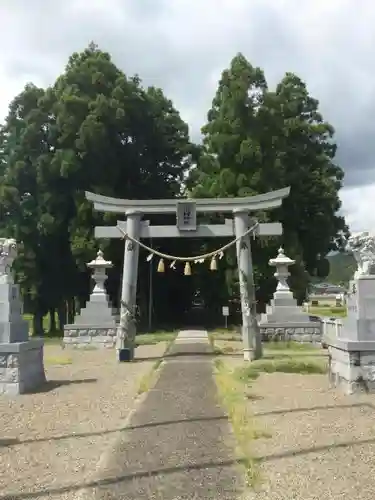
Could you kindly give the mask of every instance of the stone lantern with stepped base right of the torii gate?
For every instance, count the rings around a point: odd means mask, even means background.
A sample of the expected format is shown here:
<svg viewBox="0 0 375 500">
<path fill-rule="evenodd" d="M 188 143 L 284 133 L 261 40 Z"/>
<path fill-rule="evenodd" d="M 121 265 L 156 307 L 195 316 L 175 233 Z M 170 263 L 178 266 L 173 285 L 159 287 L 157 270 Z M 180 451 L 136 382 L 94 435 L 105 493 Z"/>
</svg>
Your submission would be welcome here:
<svg viewBox="0 0 375 500">
<path fill-rule="evenodd" d="M 274 276 L 278 280 L 276 292 L 266 313 L 261 315 L 260 330 L 263 340 L 294 340 L 297 342 L 320 342 L 320 322 L 310 321 L 308 313 L 297 305 L 287 282 L 288 267 L 295 263 L 284 254 L 282 248 L 269 264 L 276 267 Z"/>
</svg>

